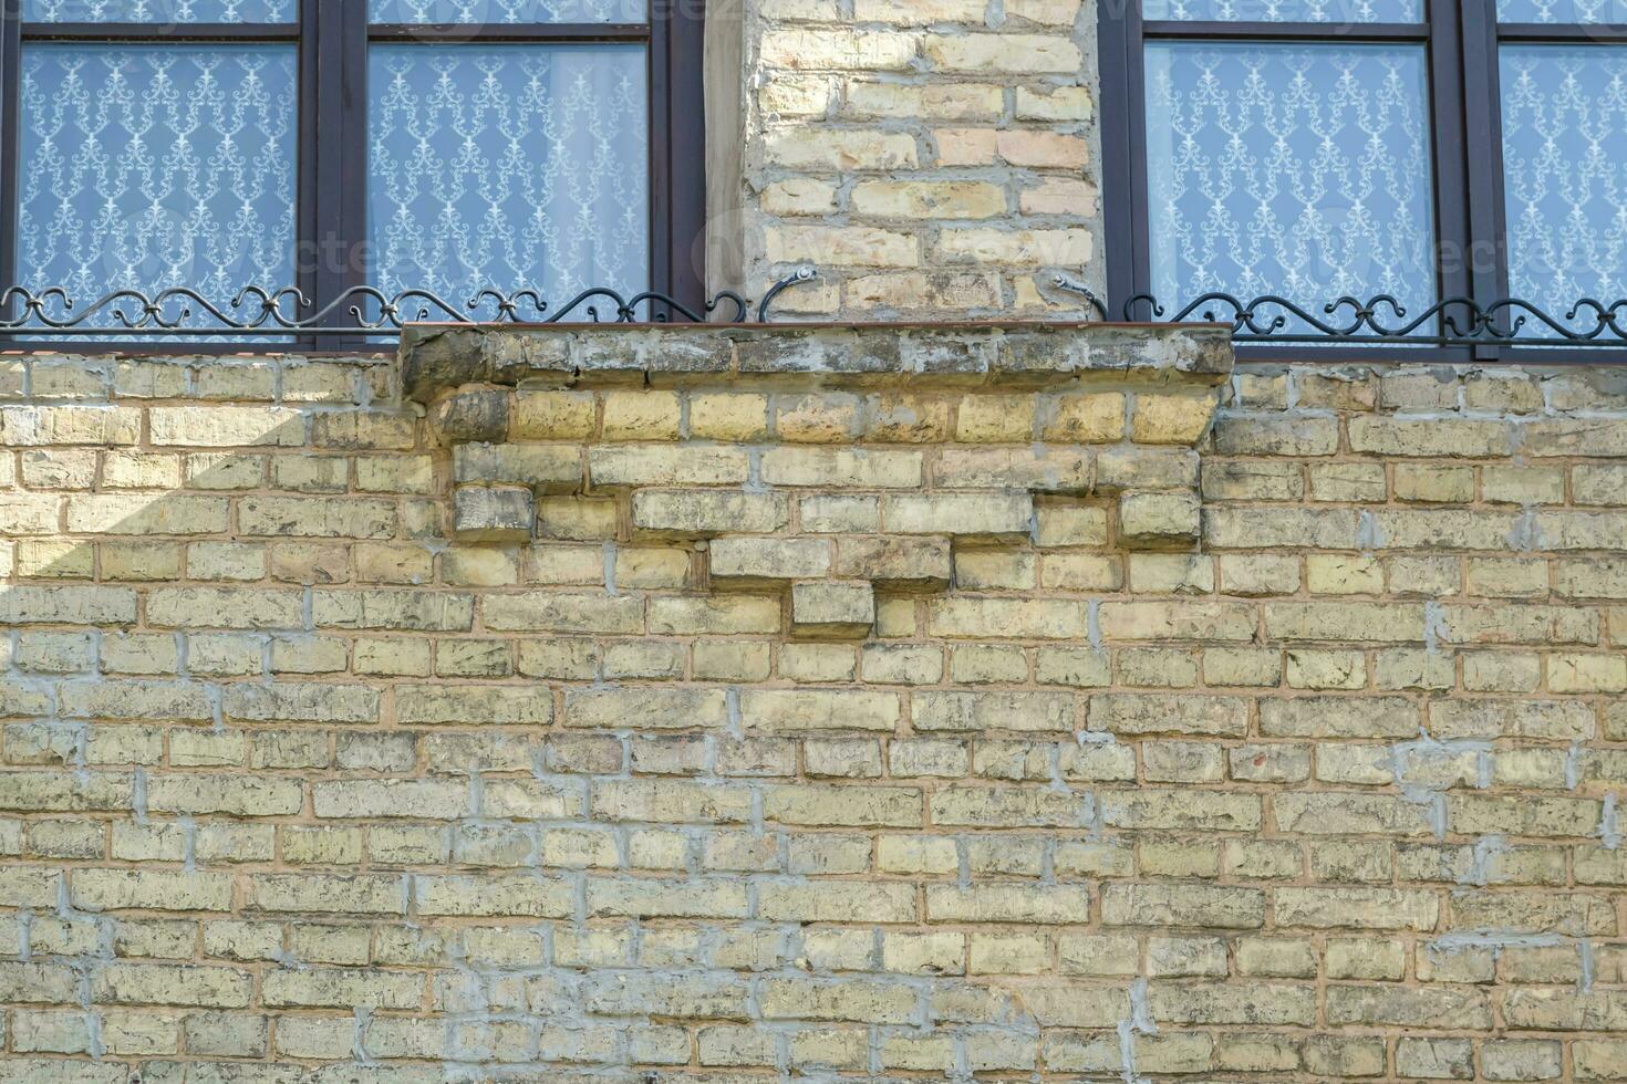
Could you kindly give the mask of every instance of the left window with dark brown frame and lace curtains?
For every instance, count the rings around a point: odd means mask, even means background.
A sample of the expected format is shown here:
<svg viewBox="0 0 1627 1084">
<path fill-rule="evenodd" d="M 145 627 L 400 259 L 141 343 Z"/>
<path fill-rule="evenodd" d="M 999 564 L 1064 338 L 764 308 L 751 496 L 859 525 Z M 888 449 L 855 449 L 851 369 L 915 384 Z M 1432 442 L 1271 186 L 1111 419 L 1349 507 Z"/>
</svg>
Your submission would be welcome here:
<svg viewBox="0 0 1627 1084">
<path fill-rule="evenodd" d="M 223 312 L 298 286 L 281 312 L 335 322 L 377 314 L 363 288 L 410 291 L 407 319 L 483 289 L 700 299 L 698 5 L 5 2 L 8 284 Z"/>
</svg>

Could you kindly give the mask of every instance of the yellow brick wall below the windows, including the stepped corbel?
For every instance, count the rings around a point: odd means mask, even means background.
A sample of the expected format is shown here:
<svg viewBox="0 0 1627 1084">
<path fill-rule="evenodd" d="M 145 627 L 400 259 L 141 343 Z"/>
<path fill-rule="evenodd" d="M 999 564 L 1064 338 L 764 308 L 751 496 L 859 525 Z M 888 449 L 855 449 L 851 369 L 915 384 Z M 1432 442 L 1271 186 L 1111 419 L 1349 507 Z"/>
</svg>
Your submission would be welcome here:
<svg viewBox="0 0 1627 1084">
<path fill-rule="evenodd" d="M 0 1081 L 1627 1077 L 1627 387 L 0 362 Z"/>
</svg>

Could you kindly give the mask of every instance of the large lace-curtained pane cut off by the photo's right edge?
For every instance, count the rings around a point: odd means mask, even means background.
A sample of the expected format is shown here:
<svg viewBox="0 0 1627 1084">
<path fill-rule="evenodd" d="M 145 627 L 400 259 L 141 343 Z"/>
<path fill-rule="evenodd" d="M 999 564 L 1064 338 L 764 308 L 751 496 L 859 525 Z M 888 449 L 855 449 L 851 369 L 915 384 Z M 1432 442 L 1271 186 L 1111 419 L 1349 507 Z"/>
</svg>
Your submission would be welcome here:
<svg viewBox="0 0 1627 1084">
<path fill-rule="evenodd" d="M 1627 47 L 1503 46 L 1500 68 L 1510 293 L 1557 319 L 1627 296 Z"/>
</svg>

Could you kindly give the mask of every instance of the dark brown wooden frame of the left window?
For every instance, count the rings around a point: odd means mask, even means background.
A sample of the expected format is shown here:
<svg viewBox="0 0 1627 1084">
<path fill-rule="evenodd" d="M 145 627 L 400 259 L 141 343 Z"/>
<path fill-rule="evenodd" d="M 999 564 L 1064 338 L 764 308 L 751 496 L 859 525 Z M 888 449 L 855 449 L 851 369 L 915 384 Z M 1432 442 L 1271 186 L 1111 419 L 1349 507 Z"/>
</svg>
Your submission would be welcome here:
<svg viewBox="0 0 1627 1084">
<path fill-rule="evenodd" d="M 314 302 L 312 310 L 348 288 L 366 284 L 358 254 L 368 239 L 366 81 L 373 42 L 620 42 L 646 46 L 648 57 L 651 281 L 604 284 L 633 293 L 652 289 L 704 310 L 704 0 L 651 0 L 648 23 L 485 24 L 368 23 L 368 0 L 299 0 L 299 20 L 283 24 L 24 23 L 21 0 L 0 5 L 0 288 L 50 284 L 18 283 L 21 52 L 29 42 L 294 46 L 299 52 L 294 234 L 301 254 L 317 254 L 314 267 L 299 268 L 294 284 Z M 532 283 L 490 286 L 516 291 Z M 156 346 L 163 349 L 163 343 Z M 216 348 L 221 346 L 226 345 Z M 342 343 L 322 346 L 332 349 Z M 242 349 L 242 343 L 229 348 Z M 197 353 L 198 345 L 185 349 Z"/>
</svg>

